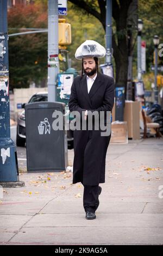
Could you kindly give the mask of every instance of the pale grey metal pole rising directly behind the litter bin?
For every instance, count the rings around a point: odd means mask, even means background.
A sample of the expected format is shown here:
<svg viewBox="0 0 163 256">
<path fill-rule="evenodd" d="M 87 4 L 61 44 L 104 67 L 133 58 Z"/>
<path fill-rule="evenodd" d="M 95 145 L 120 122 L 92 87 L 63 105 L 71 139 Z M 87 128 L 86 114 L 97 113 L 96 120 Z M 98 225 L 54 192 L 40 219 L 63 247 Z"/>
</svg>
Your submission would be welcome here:
<svg viewBox="0 0 163 256">
<path fill-rule="evenodd" d="M 48 101 L 55 101 L 58 73 L 58 0 L 48 0 Z"/>
</svg>

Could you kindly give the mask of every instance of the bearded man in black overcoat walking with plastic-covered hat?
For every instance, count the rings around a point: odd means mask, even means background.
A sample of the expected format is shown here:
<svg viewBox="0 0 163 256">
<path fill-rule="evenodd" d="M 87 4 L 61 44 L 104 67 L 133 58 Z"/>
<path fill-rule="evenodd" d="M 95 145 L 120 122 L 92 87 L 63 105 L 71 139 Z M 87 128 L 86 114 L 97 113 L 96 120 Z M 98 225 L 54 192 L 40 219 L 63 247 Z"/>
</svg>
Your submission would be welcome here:
<svg viewBox="0 0 163 256">
<path fill-rule="evenodd" d="M 93 40 L 86 40 L 76 51 L 75 57 L 82 60 L 82 76 L 74 78 L 68 106 L 87 122 L 89 113 L 104 113 L 108 123 L 108 111 L 114 105 L 114 79 L 98 72 L 98 58 L 105 56 L 105 48 Z M 84 72 L 84 75 L 83 75 Z M 102 136 L 101 129 L 86 126 L 86 130 L 74 130 L 73 184 L 84 186 L 83 206 L 86 219 L 96 218 L 99 206 L 98 196 L 102 191 L 99 183 L 105 182 L 105 157 L 110 135 Z M 87 124 L 89 125 L 89 124 Z"/>
</svg>

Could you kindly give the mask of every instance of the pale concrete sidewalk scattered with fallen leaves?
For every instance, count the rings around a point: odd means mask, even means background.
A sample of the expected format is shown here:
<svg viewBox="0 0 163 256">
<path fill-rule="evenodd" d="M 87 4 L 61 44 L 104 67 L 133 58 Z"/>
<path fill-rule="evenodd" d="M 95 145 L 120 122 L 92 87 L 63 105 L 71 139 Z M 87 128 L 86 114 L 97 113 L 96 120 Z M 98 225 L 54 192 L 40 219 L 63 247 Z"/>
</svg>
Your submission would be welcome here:
<svg viewBox="0 0 163 256">
<path fill-rule="evenodd" d="M 162 170 L 163 138 L 110 144 L 96 220 L 85 219 L 83 186 L 72 185 L 71 172 L 22 173 L 25 187 L 3 188 L 0 244 L 163 244 Z"/>
</svg>

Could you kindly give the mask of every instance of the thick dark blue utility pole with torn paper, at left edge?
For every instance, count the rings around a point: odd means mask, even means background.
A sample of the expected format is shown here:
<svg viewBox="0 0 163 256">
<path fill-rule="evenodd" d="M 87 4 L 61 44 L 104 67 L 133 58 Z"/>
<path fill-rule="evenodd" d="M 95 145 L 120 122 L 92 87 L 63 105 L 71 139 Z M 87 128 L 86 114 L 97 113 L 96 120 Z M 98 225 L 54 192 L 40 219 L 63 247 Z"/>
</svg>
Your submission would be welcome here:
<svg viewBox="0 0 163 256">
<path fill-rule="evenodd" d="M 24 186 L 19 181 L 16 146 L 10 138 L 7 0 L 0 0 L 0 185 Z"/>
</svg>

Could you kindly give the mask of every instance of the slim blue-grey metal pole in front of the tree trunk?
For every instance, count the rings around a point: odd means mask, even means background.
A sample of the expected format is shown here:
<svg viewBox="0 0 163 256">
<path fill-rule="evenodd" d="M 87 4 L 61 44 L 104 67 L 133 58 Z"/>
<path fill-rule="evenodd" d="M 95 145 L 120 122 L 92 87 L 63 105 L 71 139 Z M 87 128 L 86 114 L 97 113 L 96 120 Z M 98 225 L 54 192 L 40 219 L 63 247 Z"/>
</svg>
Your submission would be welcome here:
<svg viewBox="0 0 163 256">
<path fill-rule="evenodd" d="M 106 0 L 106 64 L 111 64 L 112 0 Z"/>
</svg>

